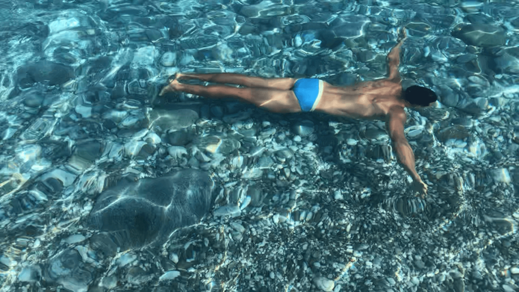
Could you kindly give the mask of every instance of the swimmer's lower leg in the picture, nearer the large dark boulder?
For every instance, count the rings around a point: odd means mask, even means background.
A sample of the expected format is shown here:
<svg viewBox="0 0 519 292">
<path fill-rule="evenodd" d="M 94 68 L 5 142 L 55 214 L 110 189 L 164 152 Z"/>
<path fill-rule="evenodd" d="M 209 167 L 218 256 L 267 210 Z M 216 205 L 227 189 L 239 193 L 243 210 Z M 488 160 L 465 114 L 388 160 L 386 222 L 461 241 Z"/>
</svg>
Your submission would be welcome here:
<svg viewBox="0 0 519 292">
<path fill-rule="evenodd" d="M 292 90 L 237 88 L 226 85 L 189 85 L 179 83 L 174 79 L 168 86 L 160 91 L 159 95 L 163 95 L 168 91 L 183 91 L 209 98 L 234 97 L 275 113 L 301 112 L 299 101 L 297 101 L 294 91 Z"/>
</svg>

